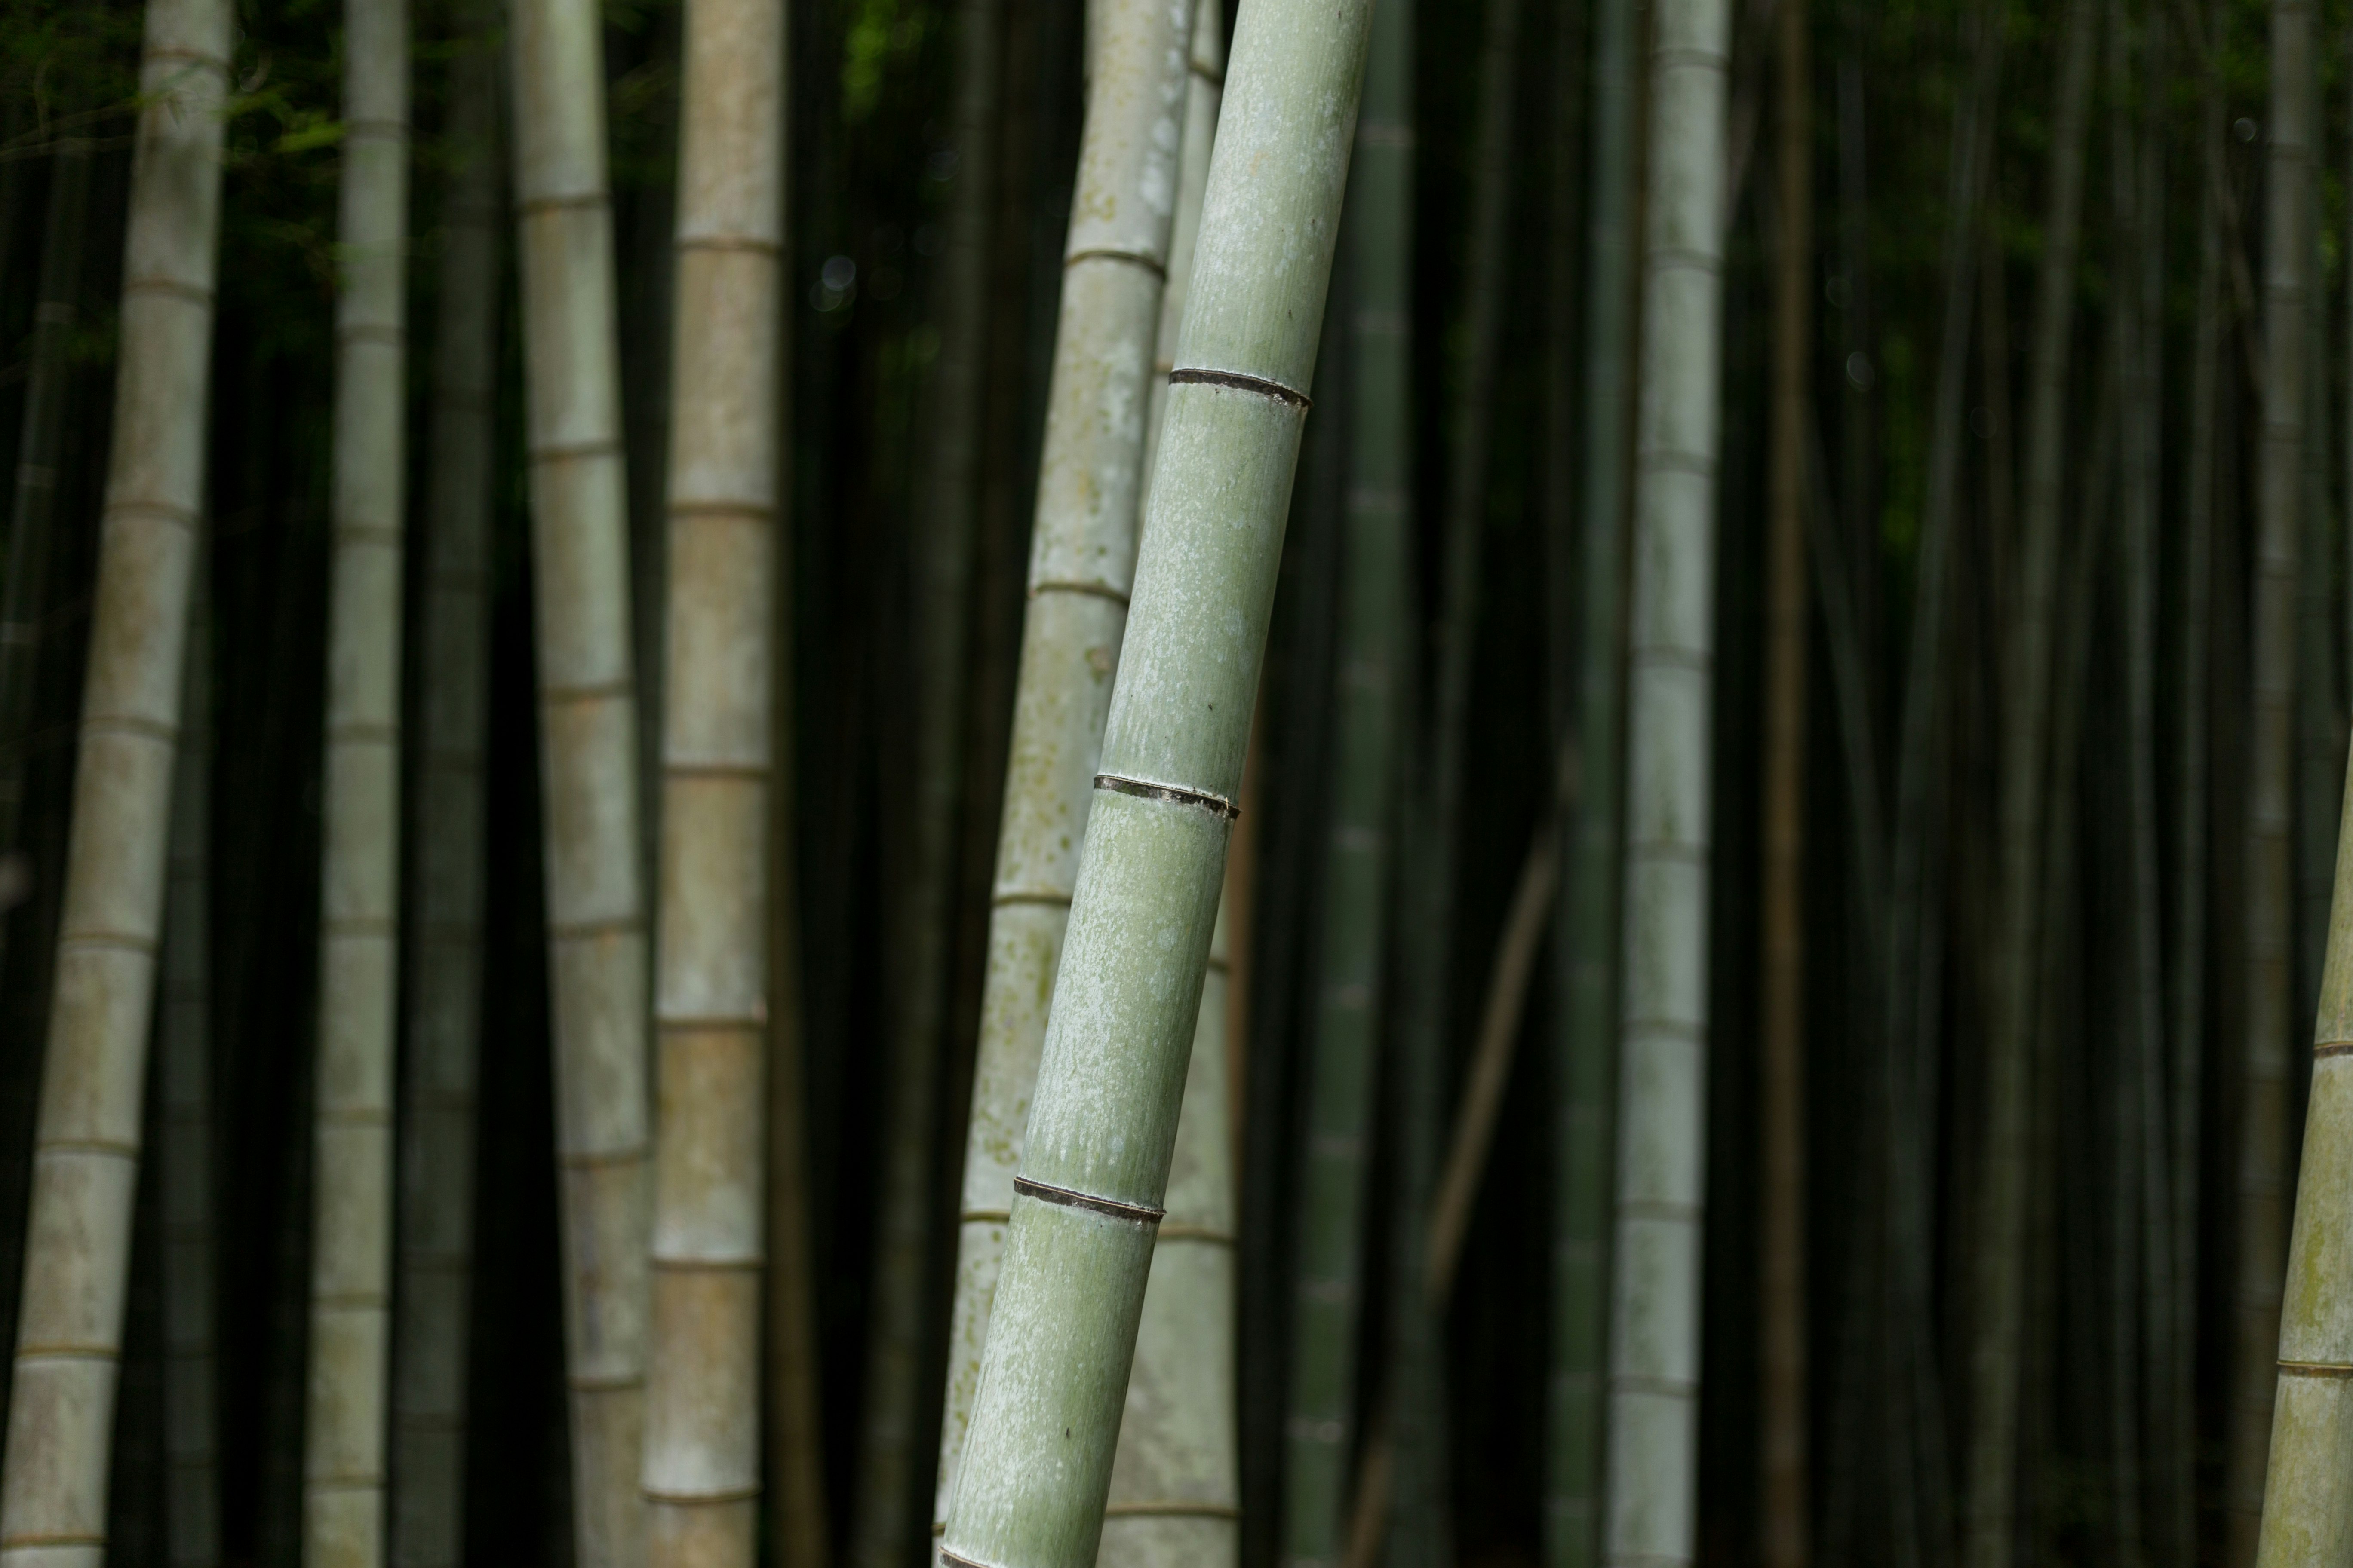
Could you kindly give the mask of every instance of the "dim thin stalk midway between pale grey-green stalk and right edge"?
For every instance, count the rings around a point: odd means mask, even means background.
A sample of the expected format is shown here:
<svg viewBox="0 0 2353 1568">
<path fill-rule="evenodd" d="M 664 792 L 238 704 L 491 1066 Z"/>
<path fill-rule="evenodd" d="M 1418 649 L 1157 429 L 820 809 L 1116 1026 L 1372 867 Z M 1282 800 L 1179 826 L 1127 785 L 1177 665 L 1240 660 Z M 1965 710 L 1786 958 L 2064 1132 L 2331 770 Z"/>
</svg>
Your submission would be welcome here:
<svg viewBox="0 0 2353 1568">
<path fill-rule="evenodd" d="M 2026 393 L 2026 496 L 2005 639 L 2000 924 L 1986 1046 L 1986 1133 L 1972 1258 L 1967 1568 L 2017 1552 L 2019 1347 L 2026 1324 L 2028 1058 L 2040 985 L 2045 771 L 2049 759 L 2052 599 L 2061 555 L 2066 371 L 2082 233 L 2082 162 L 2097 12 L 2071 0 L 2052 132 L 2049 207 L 2035 287 Z"/>
</svg>

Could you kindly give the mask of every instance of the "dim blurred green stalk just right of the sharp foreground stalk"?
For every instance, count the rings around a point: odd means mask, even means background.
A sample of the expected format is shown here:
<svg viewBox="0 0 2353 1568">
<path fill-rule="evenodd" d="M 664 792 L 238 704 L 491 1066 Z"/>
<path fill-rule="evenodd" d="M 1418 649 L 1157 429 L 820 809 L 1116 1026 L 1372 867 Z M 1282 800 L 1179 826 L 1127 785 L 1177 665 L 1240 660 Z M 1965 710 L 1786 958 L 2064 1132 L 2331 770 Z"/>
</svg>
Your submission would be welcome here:
<svg viewBox="0 0 2353 1568">
<path fill-rule="evenodd" d="M 1348 247 L 1348 487 L 1339 550 L 1332 804 L 1306 1063 L 1282 1472 L 1282 1561 L 1337 1563 L 1348 1507 L 1365 1171 L 1386 1004 L 1402 769 L 1412 529 L 1414 7 L 1377 5 L 1341 214 Z"/>
</svg>

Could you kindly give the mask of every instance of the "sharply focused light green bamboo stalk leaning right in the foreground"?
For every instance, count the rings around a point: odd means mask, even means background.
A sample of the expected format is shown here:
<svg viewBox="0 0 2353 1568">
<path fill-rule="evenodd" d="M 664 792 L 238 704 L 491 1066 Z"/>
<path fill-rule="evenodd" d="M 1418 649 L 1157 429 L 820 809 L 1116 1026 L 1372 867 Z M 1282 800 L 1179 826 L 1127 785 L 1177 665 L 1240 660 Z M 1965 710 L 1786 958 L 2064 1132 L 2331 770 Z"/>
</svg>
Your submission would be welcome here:
<svg viewBox="0 0 2353 1568">
<path fill-rule="evenodd" d="M 1167 1190 L 1369 5 L 1240 16 L 941 1561 L 1089 1568 Z M 1099 56 L 1094 103 L 1111 94 Z M 1092 115 L 1089 115 L 1092 118 Z"/>
</svg>

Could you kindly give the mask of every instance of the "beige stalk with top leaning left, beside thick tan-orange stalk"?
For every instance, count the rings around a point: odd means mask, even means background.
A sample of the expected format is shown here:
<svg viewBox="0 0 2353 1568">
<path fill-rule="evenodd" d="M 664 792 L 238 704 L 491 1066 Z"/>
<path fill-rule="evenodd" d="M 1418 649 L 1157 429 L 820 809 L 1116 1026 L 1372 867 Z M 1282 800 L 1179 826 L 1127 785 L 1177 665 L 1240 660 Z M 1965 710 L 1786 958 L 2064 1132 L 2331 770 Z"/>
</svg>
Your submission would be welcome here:
<svg viewBox="0 0 2353 1568">
<path fill-rule="evenodd" d="M 645 1556 L 647 954 L 602 14 L 508 12 L 581 1568 Z"/>
</svg>

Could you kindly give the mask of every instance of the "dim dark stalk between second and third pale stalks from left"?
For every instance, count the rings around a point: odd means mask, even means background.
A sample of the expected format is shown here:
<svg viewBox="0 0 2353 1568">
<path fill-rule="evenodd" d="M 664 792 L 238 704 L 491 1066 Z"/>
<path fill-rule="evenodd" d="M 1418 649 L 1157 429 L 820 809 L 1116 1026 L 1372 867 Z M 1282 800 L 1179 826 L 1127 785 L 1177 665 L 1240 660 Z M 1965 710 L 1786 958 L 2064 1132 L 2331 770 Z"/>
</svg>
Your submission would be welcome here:
<svg viewBox="0 0 2353 1568">
<path fill-rule="evenodd" d="M 414 919 L 393 1305 L 395 1568 L 464 1556 L 473 1138 L 482 1037 L 482 748 L 489 717 L 489 487 L 499 341 L 499 66 L 480 31 L 449 61 L 452 158 L 433 324 L 424 515 Z"/>
</svg>

